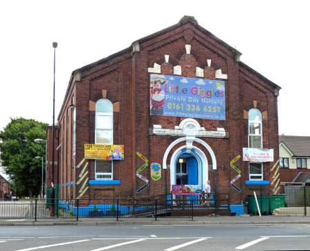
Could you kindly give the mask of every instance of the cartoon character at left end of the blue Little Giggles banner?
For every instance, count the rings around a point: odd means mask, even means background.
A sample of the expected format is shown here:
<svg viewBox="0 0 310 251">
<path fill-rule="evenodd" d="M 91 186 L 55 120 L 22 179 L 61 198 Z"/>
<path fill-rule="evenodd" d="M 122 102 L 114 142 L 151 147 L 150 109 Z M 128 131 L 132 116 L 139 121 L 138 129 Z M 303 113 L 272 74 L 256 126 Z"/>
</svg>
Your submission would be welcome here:
<svg viewBox="0 0 310 251">
<path fill-rule="evenodd" d="M 151 81 L 151 115 L 163 115 L 163 107 L 165 106 L 165 90 L 163 90 L 162 87 L 165 86 L 166 83 L 166 80 L 161 79 L 155 79 L 154 81 Z"/>
</svg>

